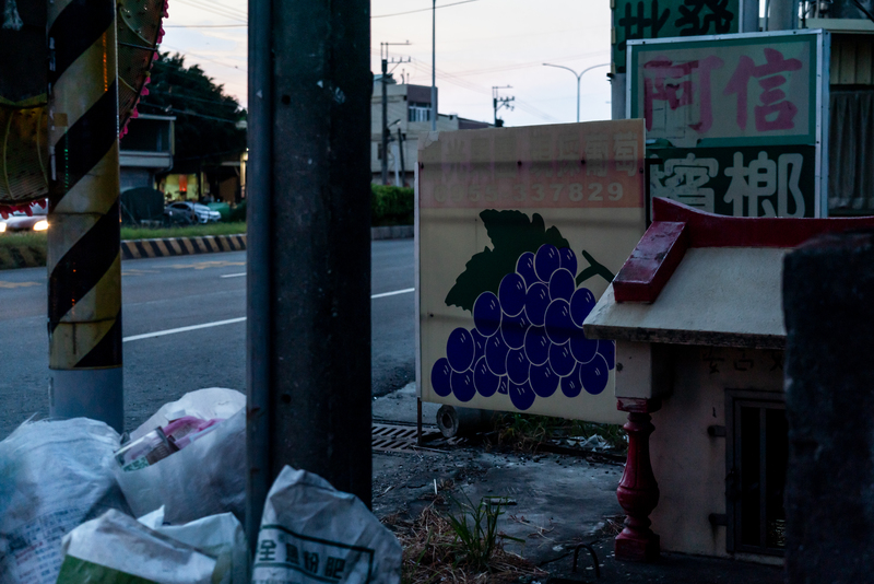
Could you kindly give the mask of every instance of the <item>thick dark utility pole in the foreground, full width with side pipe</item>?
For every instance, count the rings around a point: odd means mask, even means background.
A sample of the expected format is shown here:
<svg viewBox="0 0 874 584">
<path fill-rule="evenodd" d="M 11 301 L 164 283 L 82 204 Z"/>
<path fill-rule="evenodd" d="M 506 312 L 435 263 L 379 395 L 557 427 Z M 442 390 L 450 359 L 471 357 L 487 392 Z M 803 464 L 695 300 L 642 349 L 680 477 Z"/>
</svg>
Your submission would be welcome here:
<svg viewBox="0 0 874 584">
<path fill-rule="evenodd" d="M 247 505 L 285 466 L 370 504 L 368 0 L 249 0 Z"/>
</svg>

